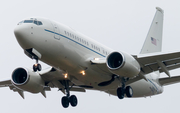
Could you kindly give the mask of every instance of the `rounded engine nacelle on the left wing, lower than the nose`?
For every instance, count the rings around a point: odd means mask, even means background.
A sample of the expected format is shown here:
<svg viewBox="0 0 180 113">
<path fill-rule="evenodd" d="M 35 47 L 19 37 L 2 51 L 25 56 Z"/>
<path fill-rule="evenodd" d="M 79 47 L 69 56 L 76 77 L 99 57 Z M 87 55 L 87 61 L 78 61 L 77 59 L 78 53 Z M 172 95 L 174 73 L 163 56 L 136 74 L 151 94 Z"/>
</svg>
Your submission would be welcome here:
<svg viewBox="0 0 180 113">
<path fill-rule="evenodd" d="M 44 81 L 41 76 L 27 68 L 17 68 L 12 73 L 12 84 L 21 90 L 31 93 L 43 91 Z"/>
</svg>

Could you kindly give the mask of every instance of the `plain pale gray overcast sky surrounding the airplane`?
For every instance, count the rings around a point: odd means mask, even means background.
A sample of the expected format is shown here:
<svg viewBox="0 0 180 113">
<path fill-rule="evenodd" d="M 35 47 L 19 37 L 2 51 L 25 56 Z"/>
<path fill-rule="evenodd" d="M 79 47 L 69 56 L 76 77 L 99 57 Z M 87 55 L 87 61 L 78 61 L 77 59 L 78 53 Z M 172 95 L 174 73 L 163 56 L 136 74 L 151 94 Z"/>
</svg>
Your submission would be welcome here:
<svg viewBox="0 0 180 113">
<path fill-rule="evenodd" d="M 20 66 L 32 67 L 35 61 L 24 55 L 13 30 L 27 17 L 46 17 L 69 25 L 77 31 L 106 46 L 131 54 L 141 50 L 155 7 L 164 9 L 163 52 L 179 51 L 179 0 L 4 0 L 0 3 L 0 80 L 9 79 Z M 43 68 L 47 65 L 43 64 Z M 171 71 L 180 75 L 180 70 Z M 165 76 L 162 74 L 162 76 Z M 10 113 L 110 113 L 110 112 L 179 112 L 180 84 L 164 88 L 164 93 L 147 98 L 119 100 L 99 91 L 72 92 L 78 97 L 78 106 L 64 109 L 63 94 L 57 89 L 41 94 L 25 93 L 23 100 L 9 88 L 0 89 L 0 112 Z"/>
</svg>

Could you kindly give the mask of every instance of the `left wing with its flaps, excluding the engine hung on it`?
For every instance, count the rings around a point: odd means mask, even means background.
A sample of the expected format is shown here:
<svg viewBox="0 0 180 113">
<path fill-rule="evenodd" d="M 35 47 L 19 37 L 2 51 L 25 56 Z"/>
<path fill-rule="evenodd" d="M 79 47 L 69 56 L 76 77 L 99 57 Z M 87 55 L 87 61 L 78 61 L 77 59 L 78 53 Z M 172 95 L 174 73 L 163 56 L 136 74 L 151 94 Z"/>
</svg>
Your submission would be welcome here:
<svg viewBox="0 0 180 113">
<path fill-rule="evenodd" d="M 53 67 L 49 67 L 47 69 L 40 71 L 39 75 L 45 81 L 44 91 L 50 91 L 51 88 L 58 88 L 63 93 L 65 93 L 65 88 L 64 88 L 65 78 L 64 78 L 63 72 L 61 70 L 57 70 Z M 73 78 L 71 81 L 69 80 L 70 91 L 76 91 L 76 92 L 85 92 L 86 91 L 81 86 L 74 84 L 73 81 L 74 81 Z M 77 82 L 78 81 L 76 81 L 76 83 Z M 22 98 L 24 98 L 24 91 L 15 87 L 12 84 L 11 80 L 0 81 L 0 87 L 9 87 L 10 90 L 13 90 L 14 92 L 18 92 L 20 94 L 20 96 Z M 44 97 L 46 97 L 44 92 L 41 92 L 41 93 L 43 94 Z"/>
</svg>

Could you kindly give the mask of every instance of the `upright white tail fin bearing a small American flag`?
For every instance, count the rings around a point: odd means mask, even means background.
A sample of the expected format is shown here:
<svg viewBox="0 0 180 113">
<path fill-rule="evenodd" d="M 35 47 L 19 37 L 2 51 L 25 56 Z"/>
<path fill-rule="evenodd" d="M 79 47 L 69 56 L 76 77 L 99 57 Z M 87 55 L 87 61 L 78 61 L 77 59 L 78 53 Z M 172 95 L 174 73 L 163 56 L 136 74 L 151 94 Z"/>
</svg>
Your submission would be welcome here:
<svg viewBox="0 0 180 113">
<path fill-rule="evenodd" d="M 156 7 L 156 10 L 156 14 L 154 16 L 140 54 L 161 51 L 164 11 L 159 7 Z"/>
</svg>

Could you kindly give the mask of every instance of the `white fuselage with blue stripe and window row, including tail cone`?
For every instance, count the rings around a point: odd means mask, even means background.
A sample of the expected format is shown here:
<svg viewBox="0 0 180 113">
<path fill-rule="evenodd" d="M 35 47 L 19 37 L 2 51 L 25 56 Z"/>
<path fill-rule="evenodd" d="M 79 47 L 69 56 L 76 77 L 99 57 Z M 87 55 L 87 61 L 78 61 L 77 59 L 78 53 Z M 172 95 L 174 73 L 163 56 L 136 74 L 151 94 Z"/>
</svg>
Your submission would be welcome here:
<svg viewBox="0 0 180 113">
<path fill-rule="evenodd" d="M 16 38 L 24 50 L 36 49 L 42 55 L 41 61 L 67 72 L 69 79 L 76 85 L 91 86 L 93 90 L 116 95 L 121 81 L 116 78 L 107 86 L 98 86 L 99 83 L 110 80 L 112 74 L 107 67 L 102 69 L 90 62 L 94 58 L 105 58 L 114 50 L 63 24 L 43 18 L 36 19 L 43 25 L 19 23 L 15 28 Z M 82 71 L 85 71 L 85 75 Z M 150 73 L 146 78 L 148 81 L 141 79 L 129 84 L 133 89 L 133 97 L 146 97 L 163 92 L 158 83 L 158 72 Z"/>
</svg>

